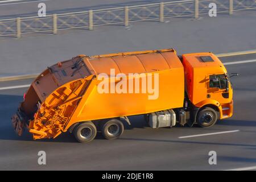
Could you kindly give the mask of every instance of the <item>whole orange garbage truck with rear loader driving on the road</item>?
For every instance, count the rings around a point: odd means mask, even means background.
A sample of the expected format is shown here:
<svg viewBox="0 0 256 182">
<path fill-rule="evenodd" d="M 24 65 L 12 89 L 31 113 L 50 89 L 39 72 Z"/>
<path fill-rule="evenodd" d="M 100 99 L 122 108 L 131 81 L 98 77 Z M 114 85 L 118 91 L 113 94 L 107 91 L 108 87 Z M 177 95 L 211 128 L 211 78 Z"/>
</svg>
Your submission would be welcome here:
<svg viewBox="0 0 256 182">
<path fill-rule="evenodd" d="M 52 65 L 32 82 L 11 120 L 18 135 L 24 128 L 34 139 L 69 131 L 86 143 L 97 131 L 120 137 L 131 115 L 144 115 L 156 129 L 210 127 L 232 114 L 232 84 L 217 56 L 161 49 L 79 55 Z"/>
</svg>

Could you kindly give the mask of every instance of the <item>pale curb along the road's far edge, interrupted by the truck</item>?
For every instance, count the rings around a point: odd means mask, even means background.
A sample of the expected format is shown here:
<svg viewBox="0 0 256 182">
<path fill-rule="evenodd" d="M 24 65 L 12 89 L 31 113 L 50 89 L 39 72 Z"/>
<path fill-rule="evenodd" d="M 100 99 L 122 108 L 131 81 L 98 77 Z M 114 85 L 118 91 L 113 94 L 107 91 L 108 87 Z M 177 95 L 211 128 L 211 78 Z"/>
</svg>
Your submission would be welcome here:
<svg viewBox="0 0 256 182">
<path fill-rule="evenodd" d="M 238 55 L 247 55 L 251 53 L 256 53 L 255 50 L 248 50 L 248 51 L 238 51 L 238 52 L 228 52 L 228 53 L 217 53 L 215 54 L 217 57 L 228 57 L 228 56 L 238 56 Z M 29 78 L 36 78 L 38 74 L 31 74 L 31 75 L 18 75 L 18 76 L 6 76 L 6 77 L 0 77 L 1 81 L 13 81 L 13 80 L 23 80 L 23 79 L 29 79 Z"/>
</svg>

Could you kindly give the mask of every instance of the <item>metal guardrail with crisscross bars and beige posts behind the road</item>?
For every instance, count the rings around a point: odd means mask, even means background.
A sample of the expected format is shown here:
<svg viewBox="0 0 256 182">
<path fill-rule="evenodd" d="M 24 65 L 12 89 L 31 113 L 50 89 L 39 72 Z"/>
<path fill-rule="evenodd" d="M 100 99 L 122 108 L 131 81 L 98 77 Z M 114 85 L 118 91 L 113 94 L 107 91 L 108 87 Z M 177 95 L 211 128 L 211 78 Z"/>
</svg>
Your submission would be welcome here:
<svg viewBox="0 0 256 182">
<path fill-rule="evenodd" d="M 86 28 L 93 30 L 94 26 L 106 24 L 123 24 L 143 20 L 159 20 L 187 16 L 199 18 L 208 14 L 209 3 L 216 3 L 217 12 L 255 9 L 256 0 L 186 0 L 161 2 L 149 5 L 125 6 L 112 9 L 89 10 L 76 13 L 53 14 L 45 17 L 24 17 L 0 20 L 0 36 L 14 35 L 19 38 L 22 34 L 32 32 L 52 32 L 71 28 Z"/>
</svg>

